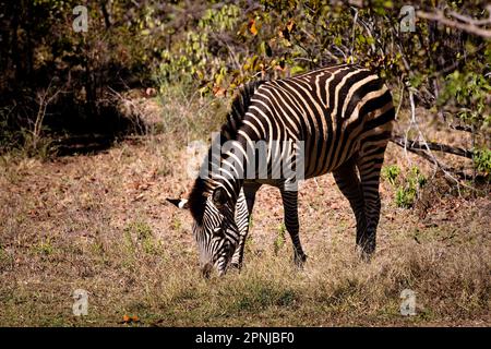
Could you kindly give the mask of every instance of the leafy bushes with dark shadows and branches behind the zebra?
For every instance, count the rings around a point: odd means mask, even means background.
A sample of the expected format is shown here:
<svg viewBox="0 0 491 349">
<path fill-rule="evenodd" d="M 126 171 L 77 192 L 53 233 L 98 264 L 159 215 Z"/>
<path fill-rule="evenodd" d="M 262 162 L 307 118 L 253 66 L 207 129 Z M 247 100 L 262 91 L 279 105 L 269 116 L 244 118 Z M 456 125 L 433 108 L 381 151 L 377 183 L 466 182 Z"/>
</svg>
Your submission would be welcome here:
<svg viewBox="0 0 491 349">
<path fill-rule="evenodd" d="M 343 62 L 378 71 L 402 107 L 400 91 L 410 89 L 417 106 L 470 125 L 481 135 L 476 148 L 489 149 L 489 39 L 419 17 L 402 31 L 405 1 L 87 1 L 88 31 L 76 33 L 79 2 L 0 5 L 2 152 L 46 146 L 39 139 L 52 134 L 139 131 L 113 108 L 130 88 L 229 96 L 250 80 Z M 412 5 L 489 15 L 477 0 Z"/>
</svg>

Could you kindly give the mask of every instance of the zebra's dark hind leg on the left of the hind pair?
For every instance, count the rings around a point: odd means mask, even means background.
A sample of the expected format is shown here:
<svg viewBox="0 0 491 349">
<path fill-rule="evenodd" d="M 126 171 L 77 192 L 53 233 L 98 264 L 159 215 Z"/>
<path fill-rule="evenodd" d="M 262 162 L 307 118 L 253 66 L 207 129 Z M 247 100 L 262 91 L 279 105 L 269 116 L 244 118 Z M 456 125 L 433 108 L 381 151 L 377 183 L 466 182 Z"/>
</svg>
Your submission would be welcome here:
<svg viewBox="0 0 491 349">
<path fill-rule="evenodd" d="M 336 184 L 340 192 L 349 201 L 351 209 L 357 220 L 357 245 L 366 233 L 367 217 L 364 214 L 364 198 L 360 183 L 360 179 L 357 174 L 356 164 L 354 159 L 350 159 L 338 167 L 333 177 L 336 180 Z"/>
</svg>

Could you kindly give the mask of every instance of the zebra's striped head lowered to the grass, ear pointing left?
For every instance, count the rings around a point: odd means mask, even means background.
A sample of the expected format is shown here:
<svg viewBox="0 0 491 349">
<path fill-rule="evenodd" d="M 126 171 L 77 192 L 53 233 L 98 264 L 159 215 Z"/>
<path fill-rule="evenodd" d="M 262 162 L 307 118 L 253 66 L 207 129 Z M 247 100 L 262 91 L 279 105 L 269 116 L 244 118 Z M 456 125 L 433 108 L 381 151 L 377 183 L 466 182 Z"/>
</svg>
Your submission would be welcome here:
<svg viewBox="0 0 491 349">
<path fill-rule="evenodd" d="M 194 218 L 193 236 L 200 253 L 203 276 L 208 277 L 213 268 L 219 276 L 224 275 L 239 240 L 233 206 L 226 190 L 217 186 L 209 195 L 203 195 L 200 202 L 196 202 L 193 195 L 189 201 L 185 198 L 167 201 L 179 208 L 191 210 Z"/>
</svg>

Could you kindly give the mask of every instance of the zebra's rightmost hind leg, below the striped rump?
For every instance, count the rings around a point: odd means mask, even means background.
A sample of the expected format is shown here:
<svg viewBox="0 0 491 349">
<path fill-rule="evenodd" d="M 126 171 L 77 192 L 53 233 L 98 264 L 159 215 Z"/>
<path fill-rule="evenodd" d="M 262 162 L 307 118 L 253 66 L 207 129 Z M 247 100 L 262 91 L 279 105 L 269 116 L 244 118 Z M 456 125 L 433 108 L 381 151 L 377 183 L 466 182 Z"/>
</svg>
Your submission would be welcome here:
<svg viewBox="0 0 491 349">
<path fill-rule="evenodd" d="M 364 260 L 369 260 L 375 251 L 376 227 L 379 226 L 381 209 L 380 172 L 384 161 L 385 147 L 386 144 L 372 146 L 357 161 L 364 198 L 364 214 L 367 216 L 367 229 L 364 233 L 357 236 L 357 244 L 361 248 Z"/>
</svg>

